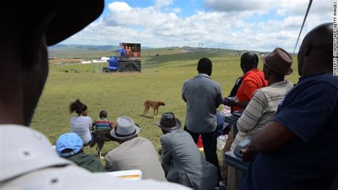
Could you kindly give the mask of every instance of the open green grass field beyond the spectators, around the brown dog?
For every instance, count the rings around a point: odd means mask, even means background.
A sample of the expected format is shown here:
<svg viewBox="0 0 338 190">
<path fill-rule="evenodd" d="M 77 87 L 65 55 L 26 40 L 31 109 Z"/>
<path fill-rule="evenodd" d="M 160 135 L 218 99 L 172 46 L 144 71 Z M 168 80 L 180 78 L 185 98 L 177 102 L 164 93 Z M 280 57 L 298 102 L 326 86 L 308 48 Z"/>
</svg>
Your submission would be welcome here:
<svg viewBox="0 0 338 190">
<path fill-rule="evenodd" d="M 155 50 L 152 50 L 152 52 Z M 158 50 L 160 51 L 160 50 Z M 170 52 L 169 52 L 170 51 Z M 175 51 L 175 52 L 173 52 Z M 220 83 L 223 96 L 227 96 L 237 79 L 242 75 L 240 56 L 193 51 L 188 53 L 177 50 L 160 51 L 160 56 L 149 56 L 142 61 L 158 61 L 158 71 L 147 71 L 151 66 L 143 65 L 143 73 L 92 73 L 93 65 L 50 66 L 48 80 L 36 109 L 31 127 L 45 134 L 52 144 L 59 135 L 70 132 L 68 105 L 80 99 L 88 106 L 88 116 L 98 118 L 102 109 L 108 111 L 108 118 L 116 121 L 118 116 L 130 116 L 142 127 L 140 136 L 153 142 L 158 148 L 161 131 L 153 119 L 143 116 L 143 102 L 163 100 L 159 114 L 173 111 L 184 124 L 185 102 L 181 99 L 183 82 L 197 74 L 198 59 L 208 57 L 213 63 L 212 79 Z M 262 62 L 259 63 L 260 69 Z M 294 73 L 287 76 L 294 83 L 298 80 L 297 59 L 292 66 Z M 79 73 L 64 73 L 63 69 L 77 69 Z M 220 106 L 221 108 L 221 106 Z M 149 112 L 153 116 L 152 110 Z M 103 147 L 103 155 L 118 144 L 108 142 Z M 85 149 L 88 154 L 96 150 Z M 220 155 L 220 154 L 219 154 Z"/>
</svg>

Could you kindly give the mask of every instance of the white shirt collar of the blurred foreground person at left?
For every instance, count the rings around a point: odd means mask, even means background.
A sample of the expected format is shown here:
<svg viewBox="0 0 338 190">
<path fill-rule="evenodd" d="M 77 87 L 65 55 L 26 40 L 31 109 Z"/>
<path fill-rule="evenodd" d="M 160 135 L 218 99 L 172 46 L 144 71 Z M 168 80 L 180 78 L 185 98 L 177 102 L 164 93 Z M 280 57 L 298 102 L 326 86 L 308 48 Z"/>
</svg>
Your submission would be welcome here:
<svg viewBox="0 0 338 190">
<path fill-rule="evenodd" d="M 0 182 L 49 166 L 73 164 L 56 154 L 46 136 L 27 126 L 0 125 Z"/>
</svg>

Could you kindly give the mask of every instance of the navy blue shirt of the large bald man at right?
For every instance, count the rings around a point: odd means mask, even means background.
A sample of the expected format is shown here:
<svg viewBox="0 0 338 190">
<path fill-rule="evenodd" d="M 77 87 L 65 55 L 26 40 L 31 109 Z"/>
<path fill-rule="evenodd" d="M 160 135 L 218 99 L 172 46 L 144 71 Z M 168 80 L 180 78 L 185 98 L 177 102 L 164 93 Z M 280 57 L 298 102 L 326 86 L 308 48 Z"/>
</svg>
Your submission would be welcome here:
<svg viewBox="0 0 338 190">
<path fill-rule="evenodd" d="M 338 173 L 338 77 L 300 78 L 273 120 L 295 138 L 257 154 L 241 189 L 329 189 Z"/>
</svg>

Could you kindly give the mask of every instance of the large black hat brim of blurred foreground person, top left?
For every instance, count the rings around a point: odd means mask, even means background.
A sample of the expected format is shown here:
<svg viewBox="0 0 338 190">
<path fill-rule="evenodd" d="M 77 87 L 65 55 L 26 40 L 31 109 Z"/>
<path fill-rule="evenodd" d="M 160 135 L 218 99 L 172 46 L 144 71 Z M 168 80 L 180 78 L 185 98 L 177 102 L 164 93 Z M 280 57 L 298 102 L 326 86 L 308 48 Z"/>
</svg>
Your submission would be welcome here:
<svg viewBox="0 0 338 190">
<path fill-rule="evenodd" d="M 12 1 L 6 4 L 1 16 L 8 11 L 11 19 L 22 21 L 20 29 L 27 33 L 31 30 L 30 27 L 43 23 L 50 17 L 46 28 L 46 44 L 52 46 L 91 24 L 101 15 L 103 8 L 103 0 Z"/>
</svg>

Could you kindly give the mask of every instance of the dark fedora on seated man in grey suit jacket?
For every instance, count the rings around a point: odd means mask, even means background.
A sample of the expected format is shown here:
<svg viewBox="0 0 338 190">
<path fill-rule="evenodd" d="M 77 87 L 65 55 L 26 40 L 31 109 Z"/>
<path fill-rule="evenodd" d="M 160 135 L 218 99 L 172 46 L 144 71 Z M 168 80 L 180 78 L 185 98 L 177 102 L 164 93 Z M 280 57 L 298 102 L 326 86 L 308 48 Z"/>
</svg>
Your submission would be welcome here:
<svg viewBox="0 0 338 190">
<path fill-rule="evenodd" d="M 167 112 L 162 114 L 160 118 L 160 123 L 155 123 L 160 129 L 165 131 L 174 131 L 180 129 L 182 124 L 179 119 L 175 118 L 175 115 L 172 112 Z"/>
</svg>

